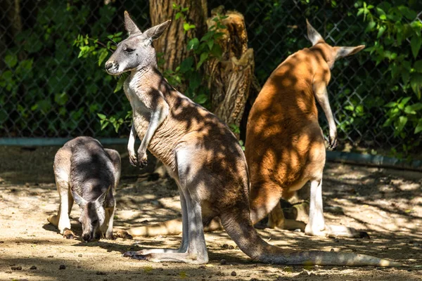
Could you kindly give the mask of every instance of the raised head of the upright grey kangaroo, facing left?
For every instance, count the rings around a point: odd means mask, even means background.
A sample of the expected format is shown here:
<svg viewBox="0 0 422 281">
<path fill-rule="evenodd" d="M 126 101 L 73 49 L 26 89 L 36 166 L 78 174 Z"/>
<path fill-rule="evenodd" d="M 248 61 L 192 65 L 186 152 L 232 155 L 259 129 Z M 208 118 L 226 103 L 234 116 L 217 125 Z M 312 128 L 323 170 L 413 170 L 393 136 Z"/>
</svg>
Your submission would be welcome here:
<svg viewBox="0 0 422 281">
<path fill-rule="evenodd" d="M 160 37 L 170 25 L 171 20 L 155 25 L 145 32 L 141 32 L 129 13 L 124 11 L 124 27 L 129 37 L 121 41 L 116 51 L 106 62 L 108 74 L 117 75 L 130 70 L 140 70 L 144 67 L 157 66 L 157 57 L 153 47 L 153 40 Z"/>
</svg>

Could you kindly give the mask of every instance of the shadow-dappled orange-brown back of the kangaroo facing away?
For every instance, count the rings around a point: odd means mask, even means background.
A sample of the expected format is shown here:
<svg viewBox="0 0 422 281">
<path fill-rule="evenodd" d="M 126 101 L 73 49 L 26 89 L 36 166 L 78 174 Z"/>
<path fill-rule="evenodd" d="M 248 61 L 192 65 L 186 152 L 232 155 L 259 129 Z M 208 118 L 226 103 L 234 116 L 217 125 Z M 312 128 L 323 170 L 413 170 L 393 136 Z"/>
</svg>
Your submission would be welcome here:
<svg viewBox="0 0 422 281">
<path fill-rule="evenodd" d="M 252 185 L 300 185 L 310 146 L 324 146 L 312 81 L 320 54 L 305 48 L 271 73 L 248 119 L 245 156 Z M 328 68 L 328 67 L 327 67 Z M 324 166 L 324 159 L 321 158 Z M 268 178 L 272 178 L 268 181 Z"/>
</svg>

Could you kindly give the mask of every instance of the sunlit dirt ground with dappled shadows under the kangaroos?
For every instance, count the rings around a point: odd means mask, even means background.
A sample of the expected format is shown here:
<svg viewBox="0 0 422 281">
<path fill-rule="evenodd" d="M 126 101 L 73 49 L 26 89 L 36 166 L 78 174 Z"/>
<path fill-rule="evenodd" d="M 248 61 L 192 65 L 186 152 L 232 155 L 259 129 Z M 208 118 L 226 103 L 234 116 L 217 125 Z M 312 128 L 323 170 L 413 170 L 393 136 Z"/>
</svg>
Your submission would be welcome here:
<svg viewBox="0 0 422 281">
<path fill-rule="evenodd" d="M 179 217 L 174 183 L 130 167 L 124 147 L 115 148 L 122 152 L 123 163 L 115 228 Z M 210 257 L 205 266 L 122 257 L 128 250 L 178 247 L 180 235 L 88 244 L 79 237 L 66 240 L 46 221 L 58 209 L 52 169 L 57 149 L 0 147 L 0 280 L 422 280 L 422 268 L 255 263 L 224 231 L 205 234 Z M 366 230 L 371 239 L 269 229 L 259 230 L 260 235 L 286 249 L 355 251 L 422 264 L 422 173 L 328 163 L 323 191 L 326 222 Z M 75 204 L 72 229 L 80 235 L 78 216 Z"/>
</svg>

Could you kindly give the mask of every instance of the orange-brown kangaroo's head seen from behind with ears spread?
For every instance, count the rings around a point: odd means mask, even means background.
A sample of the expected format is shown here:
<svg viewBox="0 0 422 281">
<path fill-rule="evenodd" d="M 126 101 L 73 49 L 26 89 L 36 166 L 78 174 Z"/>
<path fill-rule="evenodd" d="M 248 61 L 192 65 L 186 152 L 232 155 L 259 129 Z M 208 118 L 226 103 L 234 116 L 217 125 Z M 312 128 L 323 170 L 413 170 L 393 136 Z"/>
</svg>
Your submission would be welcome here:
<svg viewBox="0 0 422 281">
<path fill-rule="evenodd" d="M 312 46 L 318 46 L 319 48 L 321 48 L 321 51 L 323 51 L 326 62 L 328 63 L 328 66 L 330 68 L 333 67 L 335 60 L 338 60 L 339 58 L 344 58 L 347 55 L 353 55 L 365 48 L 365 45 L 359 45 L 354 47 L 330 46 L 326 44 L 324 38 L 322 38 L 321 34 L 319 34 L 314 29 L 314 27 L 312 27 L 308 20 L 306 20 L 306 23 L 307 37 L 309 41 L 312 42 Z"/>
</svg>

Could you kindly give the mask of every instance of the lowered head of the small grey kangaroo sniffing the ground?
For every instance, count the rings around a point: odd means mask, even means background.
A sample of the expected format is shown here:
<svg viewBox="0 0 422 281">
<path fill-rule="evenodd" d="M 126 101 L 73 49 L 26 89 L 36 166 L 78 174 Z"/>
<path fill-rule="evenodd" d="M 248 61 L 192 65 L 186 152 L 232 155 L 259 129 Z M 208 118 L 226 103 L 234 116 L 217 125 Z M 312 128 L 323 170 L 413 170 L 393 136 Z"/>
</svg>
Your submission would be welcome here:
<svg viewBox="0 0 422 281">
<path fill-rule="evenodd" d="M 82 240 L 88 242 L 92 239 L 100 238 L 100 226 L 103 225 L 106 220 L 106 209 L 104 209 L 104 201 L 106 195 L 110 191 L 111 185 L 108 187 L 106 192 L 101 194 L 94 201 L 87 201 L 82 198 L 73 188 L 72 195 L 75 202 L 81 209 L 81 215 L 79 216 L 79 223 L 82 224 Z"/>
</svg>

